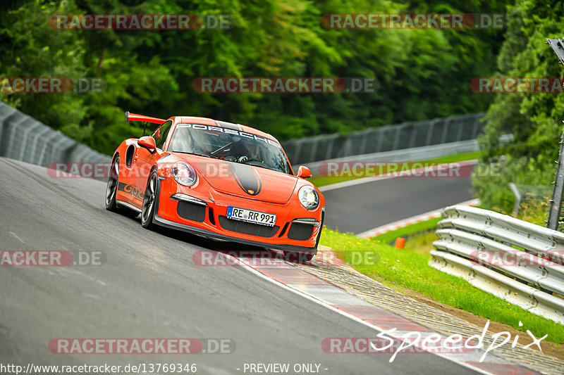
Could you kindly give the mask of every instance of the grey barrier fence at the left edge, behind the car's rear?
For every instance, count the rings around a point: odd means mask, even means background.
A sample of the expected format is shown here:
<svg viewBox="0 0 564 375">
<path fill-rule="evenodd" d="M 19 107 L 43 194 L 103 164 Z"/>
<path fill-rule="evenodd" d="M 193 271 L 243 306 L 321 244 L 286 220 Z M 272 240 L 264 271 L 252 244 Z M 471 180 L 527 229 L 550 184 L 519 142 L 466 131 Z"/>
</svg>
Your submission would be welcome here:
<svg viewBox="0 0 564 375">
<path fill-rule="evenodd" d="M 43 165 L 110 163 L 111 158 L 0 101 L 0 156 Z"/>
</svg>

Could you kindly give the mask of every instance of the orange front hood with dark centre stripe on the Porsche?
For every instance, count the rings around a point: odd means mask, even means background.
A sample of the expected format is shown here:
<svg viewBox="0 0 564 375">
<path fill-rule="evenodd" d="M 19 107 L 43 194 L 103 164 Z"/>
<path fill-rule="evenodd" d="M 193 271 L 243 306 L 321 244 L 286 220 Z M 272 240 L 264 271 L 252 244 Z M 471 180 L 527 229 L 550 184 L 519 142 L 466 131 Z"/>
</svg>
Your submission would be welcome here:
<svg viewBox="0 0 564 375">
<path fill-rule="evenodd" d="M 262 167 L 193 155 L 177 156 L 195 167 L 216 191 L 233 196 L 286 203 L 298 183 L 298 177 Z"/>
</svg>

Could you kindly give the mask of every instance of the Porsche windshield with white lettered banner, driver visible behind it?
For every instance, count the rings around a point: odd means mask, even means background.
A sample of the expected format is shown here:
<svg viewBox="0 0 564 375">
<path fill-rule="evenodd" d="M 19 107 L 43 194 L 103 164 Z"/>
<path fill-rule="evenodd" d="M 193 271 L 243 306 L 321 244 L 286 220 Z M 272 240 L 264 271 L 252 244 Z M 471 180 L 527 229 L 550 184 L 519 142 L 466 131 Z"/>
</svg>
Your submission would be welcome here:
<svg viewBox="0 0 564 375">
<path fill-rule="evenodd" d="M 192 153 L 292 173 L 288 159 L 278 142 L 223 127 L 179 124 L 168 151 Z"/>
</svg>

